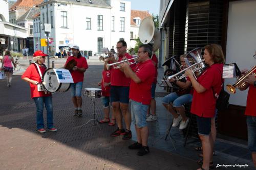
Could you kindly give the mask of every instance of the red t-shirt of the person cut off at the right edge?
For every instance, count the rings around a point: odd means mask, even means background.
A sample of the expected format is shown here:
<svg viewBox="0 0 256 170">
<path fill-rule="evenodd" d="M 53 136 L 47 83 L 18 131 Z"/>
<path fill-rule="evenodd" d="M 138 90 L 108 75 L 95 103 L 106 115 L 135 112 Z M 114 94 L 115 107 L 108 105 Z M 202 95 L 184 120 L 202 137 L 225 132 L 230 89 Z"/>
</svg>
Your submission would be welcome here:
<svg viewBox="0 0 256 170">
<path fill-rule="evenodd" d="M 256 70 L 254 70 L 256 73 Z M 245 115 L 247 116 L 256 116 L 256 87 L 253 85 L 249 86 L 249 91 L 247 95 Z"/>
</svg>

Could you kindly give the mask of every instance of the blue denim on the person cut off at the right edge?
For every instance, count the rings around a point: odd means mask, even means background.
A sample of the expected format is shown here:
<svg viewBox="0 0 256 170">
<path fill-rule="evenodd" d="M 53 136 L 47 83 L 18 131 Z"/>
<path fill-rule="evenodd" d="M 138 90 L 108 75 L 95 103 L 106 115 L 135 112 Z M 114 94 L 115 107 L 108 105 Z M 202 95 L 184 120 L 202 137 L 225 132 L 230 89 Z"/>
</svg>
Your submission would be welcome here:
<svg viewBox="0 0 256 170">
<path fill-rule="evenodd" d="M 247 116 L 248 148 L 251 152 L 256 152 L 256 117 Z"/>
</svg>

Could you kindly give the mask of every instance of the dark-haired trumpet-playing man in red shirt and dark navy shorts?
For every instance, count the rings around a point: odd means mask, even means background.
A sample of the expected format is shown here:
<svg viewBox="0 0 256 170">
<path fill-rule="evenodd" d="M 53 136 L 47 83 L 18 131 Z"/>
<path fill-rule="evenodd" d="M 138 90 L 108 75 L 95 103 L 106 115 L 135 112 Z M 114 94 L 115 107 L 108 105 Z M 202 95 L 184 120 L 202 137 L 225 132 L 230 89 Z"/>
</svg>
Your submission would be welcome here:
<svg viewBox="0 0 256 170">
<path fill-rule="evenodd" d="M 111 63 L 119 62 L 121 60 L 132 59 L 133 57 L 126 53 L 127 45 L 126 42 L 120 40 L 116 45 L 118 52 L 118 60 L 112 56 L 110 57 Z M 134 62 L 130 60 L 130 62 Z M 104 69 L 107 70 L 106 64 Z M 119 136 L 124 135 L 123 139 L 131 139 L 131 113 L 128 109 L 129 106 L 129 86 L 131 79 L 126 78 L 123 72 L 123 68 L 114 68 L 111 69 L 111 87 L 110 87 L 110 102 L 113 106 L 113 112 L 116 117 L 117 130 L 114 131 L 111 136 Z M 120 110 L 121 109 L 121 110 Z M 122 113 L 122 114 L 121 114 Z M 123 129 L 122 126 L 122 116 L 124 117 L 124 122 L 126 125 L 126 130 Z"/>
</svg>

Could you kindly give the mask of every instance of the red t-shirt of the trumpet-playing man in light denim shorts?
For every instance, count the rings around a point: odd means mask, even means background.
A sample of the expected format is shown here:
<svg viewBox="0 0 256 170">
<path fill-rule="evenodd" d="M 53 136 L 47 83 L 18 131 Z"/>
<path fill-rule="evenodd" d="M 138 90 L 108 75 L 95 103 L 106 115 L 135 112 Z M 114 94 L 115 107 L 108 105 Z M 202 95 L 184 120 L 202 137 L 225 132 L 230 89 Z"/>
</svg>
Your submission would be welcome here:
<svg viewBox="0 0 256 170">
<path fill-rule="evenodd" d="M 138 63 L 133 70 L 141 82 L 137 84 L 131 80 L 129 98 L 143 105 L 150 105 L 151 84 L 154 81 L 155 66 L 152 60 L 147 60 Z"/>
</svg>

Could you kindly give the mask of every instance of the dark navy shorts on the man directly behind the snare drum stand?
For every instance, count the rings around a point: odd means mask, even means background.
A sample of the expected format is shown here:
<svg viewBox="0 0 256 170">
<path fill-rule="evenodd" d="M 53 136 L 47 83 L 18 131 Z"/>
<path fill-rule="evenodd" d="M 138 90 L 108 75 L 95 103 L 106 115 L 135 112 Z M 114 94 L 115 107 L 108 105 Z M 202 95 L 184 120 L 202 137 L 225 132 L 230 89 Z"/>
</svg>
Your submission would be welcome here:
<svg viewBox="0 0 256 170">
<path fill-rule="evenodd" d="M 110 86 L 110 102 L 129 104 L 129 87 Z"/>
</svg>

